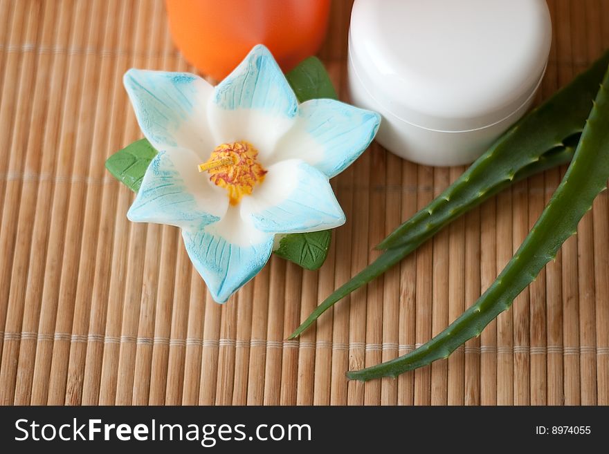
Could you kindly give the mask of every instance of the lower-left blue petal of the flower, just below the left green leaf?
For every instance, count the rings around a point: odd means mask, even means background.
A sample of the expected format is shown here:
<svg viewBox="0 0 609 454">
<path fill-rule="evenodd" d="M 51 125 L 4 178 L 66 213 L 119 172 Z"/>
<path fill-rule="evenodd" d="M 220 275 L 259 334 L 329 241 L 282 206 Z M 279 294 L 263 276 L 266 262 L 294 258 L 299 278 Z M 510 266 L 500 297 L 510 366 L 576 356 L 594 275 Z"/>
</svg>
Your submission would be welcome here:
<svg viewBox="0 0 609 454">
<path fill-rule="evenodd" d="M 228 205 L 226 195 L 218 196 L 217 189 L 198 175 L 197 162 L 190 150 L 160 151 L 146 170 L 127 218 L 187 229 L 202 229 L 219 220 Z M 196 194 L 189 189 L 193 178 L 199 179 Z"/>
</svg>

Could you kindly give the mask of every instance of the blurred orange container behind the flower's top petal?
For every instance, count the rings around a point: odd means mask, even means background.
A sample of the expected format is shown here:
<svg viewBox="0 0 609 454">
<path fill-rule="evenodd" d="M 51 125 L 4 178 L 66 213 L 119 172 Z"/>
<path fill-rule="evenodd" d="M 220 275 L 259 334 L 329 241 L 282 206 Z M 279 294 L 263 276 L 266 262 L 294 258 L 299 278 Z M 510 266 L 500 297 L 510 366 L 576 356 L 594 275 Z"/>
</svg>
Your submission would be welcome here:
<svg viewBox="0 0 609 454">
<path fill-rule="evenodd" d="M 203 74 L 221 80 L 256 44 L 289 71 L 325 36 L 330 0 L 165 0 L 174 43 Z"/>
</svg>

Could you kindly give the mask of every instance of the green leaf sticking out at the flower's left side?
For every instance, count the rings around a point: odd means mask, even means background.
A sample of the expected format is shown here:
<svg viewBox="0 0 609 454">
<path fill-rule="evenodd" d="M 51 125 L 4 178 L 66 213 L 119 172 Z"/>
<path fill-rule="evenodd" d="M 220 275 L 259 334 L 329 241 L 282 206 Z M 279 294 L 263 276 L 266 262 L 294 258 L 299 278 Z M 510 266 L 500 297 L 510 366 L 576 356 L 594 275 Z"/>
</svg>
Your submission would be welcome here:
<svg viewBox="0 0 609 454">
<path fill-rule="evenodd" d="M 106 169 L 131 191 L 137 192 L 156 153 L 154 146 L 146 139 L 137 140 L 111 155 L 106 161 Z"/>
</svg>

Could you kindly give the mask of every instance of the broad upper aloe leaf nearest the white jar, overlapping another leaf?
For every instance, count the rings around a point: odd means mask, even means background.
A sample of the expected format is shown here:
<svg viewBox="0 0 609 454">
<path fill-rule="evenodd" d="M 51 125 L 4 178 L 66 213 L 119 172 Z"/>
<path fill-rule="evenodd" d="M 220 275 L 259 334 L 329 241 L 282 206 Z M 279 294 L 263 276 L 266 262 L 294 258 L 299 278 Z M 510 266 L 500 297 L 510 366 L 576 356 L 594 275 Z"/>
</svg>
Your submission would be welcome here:
<svg viewBox="0 0 609 454">
<path fill-rule="evenodd" d="M 395 229 L 377 249 L 403 245 L 437 231 L 436 227 L 444 227 L 478 205 L 481 196 L 511 180 L 519 169 L 560 146 L 570 135 L 581 133 L 608 64 L 609 52 L 512 126 L 451 187 Z"/>
</svg>

